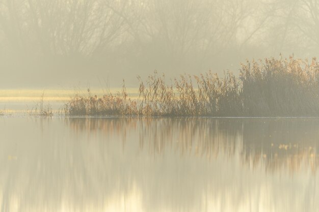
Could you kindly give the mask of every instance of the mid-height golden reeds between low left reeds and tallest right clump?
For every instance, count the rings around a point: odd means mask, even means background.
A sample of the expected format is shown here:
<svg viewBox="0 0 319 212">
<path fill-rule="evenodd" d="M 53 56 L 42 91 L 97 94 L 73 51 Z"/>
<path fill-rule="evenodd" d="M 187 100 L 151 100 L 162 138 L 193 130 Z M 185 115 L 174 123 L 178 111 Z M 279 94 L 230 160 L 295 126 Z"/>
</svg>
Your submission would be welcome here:
<svg viewBox="0 0 319 212">
<path fill-rule="evenodd" d="M 236 115 L 241 110 L 238 88 L 230 72 L 222 79 L 211 71 L 200 76 L 181 75 L 174 79 L 174 87 L 154 72 L 146 84 L 140 80 L 140 111 L 159 116 Z"/>
</svg>

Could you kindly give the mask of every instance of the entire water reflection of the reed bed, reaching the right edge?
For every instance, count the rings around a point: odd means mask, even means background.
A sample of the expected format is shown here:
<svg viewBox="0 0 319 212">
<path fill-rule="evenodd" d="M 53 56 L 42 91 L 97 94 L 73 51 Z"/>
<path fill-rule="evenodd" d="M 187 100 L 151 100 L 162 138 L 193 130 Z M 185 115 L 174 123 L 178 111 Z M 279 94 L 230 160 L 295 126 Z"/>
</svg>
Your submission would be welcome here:
<svg viewBox="0 0 319 212">
<path fill-rule="evenodd" d="M 302 165 L 314 172 L 319 162 L 318 119 L 240 118 L 71 118 L 76 132 L 101 131 L 122 136 L 138 132 L 140 148 L 151 154 L 174 149 L 181 155 L 216 158 L 241 154 L 244 164 L 263 164 L 267 171 Z"/>
</svg>

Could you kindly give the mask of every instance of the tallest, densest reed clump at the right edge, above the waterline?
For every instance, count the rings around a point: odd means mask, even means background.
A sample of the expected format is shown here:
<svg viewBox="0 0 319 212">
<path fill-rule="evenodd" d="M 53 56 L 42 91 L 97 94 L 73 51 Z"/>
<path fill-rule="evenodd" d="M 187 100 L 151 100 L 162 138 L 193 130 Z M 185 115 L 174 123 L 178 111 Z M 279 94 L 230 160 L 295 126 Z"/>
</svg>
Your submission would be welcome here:
<svg viewBox="0 0 319 212">
<path fill-rule="evenodd" d="M 240 98 L 246 116 L 319 114 L 319 65 L 307 60 L 265 59 L 242 64 Z"/>
</svg>

